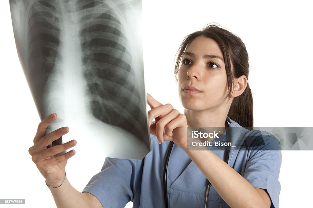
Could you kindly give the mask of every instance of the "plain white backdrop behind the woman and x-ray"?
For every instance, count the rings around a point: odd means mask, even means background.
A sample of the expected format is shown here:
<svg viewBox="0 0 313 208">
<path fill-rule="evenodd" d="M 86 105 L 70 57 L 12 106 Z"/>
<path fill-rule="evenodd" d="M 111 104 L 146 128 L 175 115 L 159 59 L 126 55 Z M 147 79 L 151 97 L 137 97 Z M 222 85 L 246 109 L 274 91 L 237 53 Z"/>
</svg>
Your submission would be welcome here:
<svg viewBox="0 0 313 208">
<path fill-rule="evenodd" d="M 242 38 L 251 71 L 255 126 L 313 126 L 312 32 L 306 1 L 145 1 L 143 41 L 146 92 L 182 112 L 173 75 L 182 38 L 209 22 L 217 22 Z M 170 3 L 169 3 L 170 2 Z M 296 3 L 295 3 L 296 2 Z M 25 199 L 25 205 L 55 207 L 52 195 L 33 164 L 28 148 L 40 122 L 20 67 L 8 1 L 0 3 L 0 199 Z M 104 158 L 90 160 L 92 149 L 78 144 L 66 170 L 82 191 L 100 171 Z M 312 141 L 311 141 L 312 142 Z M 280 207 L 308 207 L 311 151 L 283 151 Z M 84 169 L 90 163 L 92 168 Z M 0 207 L 7 207 L 0 205 Z M 131 207 L 131 206 L 130 206 Z"/>
</svg>

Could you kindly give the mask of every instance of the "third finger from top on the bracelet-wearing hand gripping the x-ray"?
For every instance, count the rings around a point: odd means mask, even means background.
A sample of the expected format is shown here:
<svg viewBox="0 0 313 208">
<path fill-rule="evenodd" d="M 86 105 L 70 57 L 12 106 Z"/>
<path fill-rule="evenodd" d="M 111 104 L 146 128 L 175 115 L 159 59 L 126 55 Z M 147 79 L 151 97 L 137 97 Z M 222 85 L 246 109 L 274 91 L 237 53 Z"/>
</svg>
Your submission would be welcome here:
<svg viewBox="0 0 313 208">
<path fill-rule="evenodd" d="M 49 157 L 52 157 L 56 154 L 64 152 L 65 150 L 72 148 L 75 145 L 76 145 L 76 141 L 72 140 L 72 141 L 69 141 L 69 142 L 61 144 L 61 145 L 56 145 L 56 146 L 53 146 L 51 148 L 44 149 L 44 150 L 38 152 L 38 154 L 34 155 L 32 157 L 32 160 L 33 160 L 33 162 L 36 163 L 38 161 L 44 160 L 46 158 L 49 158 Z"/>
</svg>

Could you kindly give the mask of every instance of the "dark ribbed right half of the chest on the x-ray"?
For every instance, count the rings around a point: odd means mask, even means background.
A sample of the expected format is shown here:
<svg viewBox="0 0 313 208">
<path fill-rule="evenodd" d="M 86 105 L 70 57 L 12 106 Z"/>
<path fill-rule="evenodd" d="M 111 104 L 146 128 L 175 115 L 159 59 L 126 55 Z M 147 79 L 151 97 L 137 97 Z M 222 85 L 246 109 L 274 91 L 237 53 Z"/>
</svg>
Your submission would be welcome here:
<svg viewBox="0 0 313 208">
<path fill-rule="evenodd" d="M 141 104 L 145 100 L 144 86 L 138 86 L 136 81 L 132 38 L 117 7 L 110 1 L 81 0 L 76 5 L 85 14 L 80 19 L 80 36 L 92 114 L 105 123 L 144 137 L 146 126 L 142 123 L 146 121 L 146 113 Z"/>
</svg>

